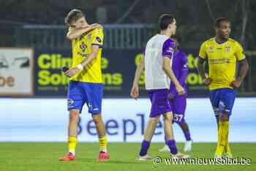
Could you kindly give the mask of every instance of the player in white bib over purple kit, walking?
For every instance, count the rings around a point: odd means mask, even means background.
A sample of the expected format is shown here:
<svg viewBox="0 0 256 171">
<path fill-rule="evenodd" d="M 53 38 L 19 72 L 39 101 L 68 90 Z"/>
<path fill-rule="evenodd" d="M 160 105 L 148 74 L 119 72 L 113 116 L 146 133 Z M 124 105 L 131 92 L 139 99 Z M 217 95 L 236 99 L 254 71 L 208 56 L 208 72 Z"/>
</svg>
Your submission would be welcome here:
<svg viewBox="0 0 256 171">
<path fill-rule="evenodd" d="M 132 85 L 131 96 L 137 99 L 139 96 L 138 81 L 140 74 L 145 67 L 146 90 L 151 100 L 151 113 L 146 126 L 144 140 L 141 143 L 138 160 L 150 160 L 148 148 L 151 143 L 159 117 L 164 116 L 164 130 L 167 145 L 173 157 L 187 159 L 189 156 L 178 153 L 176 142 L 173 137 L 173 113 L 168 100 L 170 80 L 176 86 L 178 94 L 184 94 L 184 88 L 178 83 L 172 69 L 172 58 L 174 53 L 174 42 L 170 36 L 176 33 L 176 20 L 172 15 L 162 15 L 159 18 L 160 34 L 151 37 L 146 44 L 146 50 L 140 65 L 136 69 L 135 78 Z"/>
</svg>

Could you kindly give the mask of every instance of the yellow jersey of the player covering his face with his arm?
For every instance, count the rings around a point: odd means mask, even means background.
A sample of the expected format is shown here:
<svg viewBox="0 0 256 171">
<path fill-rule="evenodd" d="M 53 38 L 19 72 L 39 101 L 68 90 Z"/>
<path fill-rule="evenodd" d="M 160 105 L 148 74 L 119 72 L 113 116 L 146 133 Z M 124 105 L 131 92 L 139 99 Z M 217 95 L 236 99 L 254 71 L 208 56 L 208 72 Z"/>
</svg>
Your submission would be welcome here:
<svg viewBox="0 0 256 171">
<path fill-rule="evenodd" d="M 99 50 L 97 57 L 85 66 L 82 71 L 73 75 L 70 80 L 87 83 L 102 83 L 101 56 L 103 39 L 104 34 L 102 28 L 95 28 L 72 40 L 72 67 L 78 66 L 78 64 L 89 57 L 92 45 L 98 45 Z"/>
</svg>

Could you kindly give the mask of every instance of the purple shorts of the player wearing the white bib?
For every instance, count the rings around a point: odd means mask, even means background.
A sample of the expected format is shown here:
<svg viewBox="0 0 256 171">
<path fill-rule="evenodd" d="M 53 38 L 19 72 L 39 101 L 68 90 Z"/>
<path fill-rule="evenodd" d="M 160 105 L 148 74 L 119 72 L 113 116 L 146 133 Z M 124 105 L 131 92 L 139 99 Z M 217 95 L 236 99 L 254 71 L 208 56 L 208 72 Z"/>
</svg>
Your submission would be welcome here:
<svg viewBox="0 0 256 171">
<path fill-rule="evenodd" d="M 168 94 L 169 91 L 167 89 L 148 91 L 148 96 L 151 101 L 151 112 L 149 117 L 158 117 L 159 115 L 172 111 Z"/>
</svg>

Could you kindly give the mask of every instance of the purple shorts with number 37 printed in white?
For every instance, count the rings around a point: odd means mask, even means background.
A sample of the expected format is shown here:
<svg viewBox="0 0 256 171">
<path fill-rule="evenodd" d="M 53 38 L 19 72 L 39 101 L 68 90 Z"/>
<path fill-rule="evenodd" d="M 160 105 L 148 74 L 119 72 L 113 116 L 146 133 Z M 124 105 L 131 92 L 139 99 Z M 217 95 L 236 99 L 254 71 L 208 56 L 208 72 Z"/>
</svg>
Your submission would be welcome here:
<svg viewBox="0 0 256 171">
<path fill-rule="evenodd" d="M 170 107 L 173 109 L 173 121 L 176 123 L 184 123 L 185 110 L 187 106 L 186 96 L 174 96 L 174 99 L 170 100 Z"/>
</svg>

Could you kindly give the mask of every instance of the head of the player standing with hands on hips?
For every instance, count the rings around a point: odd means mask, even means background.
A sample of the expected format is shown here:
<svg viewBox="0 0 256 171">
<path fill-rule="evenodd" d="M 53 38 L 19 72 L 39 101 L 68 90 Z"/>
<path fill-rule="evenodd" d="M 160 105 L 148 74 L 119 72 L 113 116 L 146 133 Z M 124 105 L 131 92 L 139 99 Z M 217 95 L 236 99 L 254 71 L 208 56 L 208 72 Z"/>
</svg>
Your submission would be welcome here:
<svg viewBox="0 0 256 171">
<path fill-rule="evenodd" d="M 217 18 L 215 21 L 215 31 L 218 37 L 228 39 L 231 32 L 230 20 L 227 18 Z"/>
</svg>

